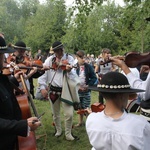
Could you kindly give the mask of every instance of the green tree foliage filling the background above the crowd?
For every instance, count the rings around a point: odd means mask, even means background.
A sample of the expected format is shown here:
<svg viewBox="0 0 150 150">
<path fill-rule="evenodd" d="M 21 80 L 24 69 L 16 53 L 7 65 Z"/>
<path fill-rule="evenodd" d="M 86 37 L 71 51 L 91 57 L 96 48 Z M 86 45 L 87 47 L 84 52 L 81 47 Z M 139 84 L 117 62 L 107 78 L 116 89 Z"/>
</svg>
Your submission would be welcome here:
<svg viewBox="0 0 150 150">
<path fill-rule="evenodd" d="M 105 5 L 104 2 L 105 1 Z M 0 32 L 7 42 L 23 40 L 31 47 L 49 50 L 61 40 L 66 51 L 78 49 L 98 55 L 108 47 L 113 54 L 147 52 L 150 48 L 150 1 L 124 0 L 116 6 L 110 0 L 76 0 L 66 9 L 64 0 L 1 0 Z"/>
</svg>

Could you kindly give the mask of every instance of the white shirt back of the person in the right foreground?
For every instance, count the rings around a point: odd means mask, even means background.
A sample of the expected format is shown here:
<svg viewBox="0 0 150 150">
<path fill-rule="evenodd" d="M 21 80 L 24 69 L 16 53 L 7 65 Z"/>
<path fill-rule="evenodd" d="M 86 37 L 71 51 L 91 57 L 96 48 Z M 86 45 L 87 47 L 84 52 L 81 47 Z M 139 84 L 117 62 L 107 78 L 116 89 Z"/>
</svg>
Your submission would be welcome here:
<svg viewBox="0 0 150 150">
<path fill-rule="evenodd" d="M 148 150 L 150 125 L 141 116 L 124 112 L 119 119 L 91 113 L 86 129 L 93 150 Z"/>
</svg>

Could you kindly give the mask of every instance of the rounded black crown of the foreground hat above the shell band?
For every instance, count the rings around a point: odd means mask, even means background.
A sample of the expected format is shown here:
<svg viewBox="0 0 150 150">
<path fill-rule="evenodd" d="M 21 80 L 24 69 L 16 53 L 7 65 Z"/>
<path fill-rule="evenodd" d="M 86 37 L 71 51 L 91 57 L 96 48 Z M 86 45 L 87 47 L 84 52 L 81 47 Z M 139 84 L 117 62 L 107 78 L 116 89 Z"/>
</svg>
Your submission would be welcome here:
<svg viewBox="0 0 150 150">
<path fill-rule="evenodd" d="M 102 77 L 100 84 L 108 86 L 124 86 L 129 85 L 129 82 L 123 74 L 119 72 L 109 72 Z"/>
</svg>

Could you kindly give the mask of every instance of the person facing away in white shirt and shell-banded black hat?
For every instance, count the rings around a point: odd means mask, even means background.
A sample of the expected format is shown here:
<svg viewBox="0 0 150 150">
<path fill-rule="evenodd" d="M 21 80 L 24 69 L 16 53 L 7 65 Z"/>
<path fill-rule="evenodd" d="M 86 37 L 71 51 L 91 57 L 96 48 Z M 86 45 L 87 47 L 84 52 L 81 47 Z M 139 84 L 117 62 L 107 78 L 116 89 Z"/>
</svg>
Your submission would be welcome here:
<svg viewBox="0 0 150 150">
<path fill-rule="evenodd" d="M 86 131 L 92 150 L 148 150 L 150 124 L 143 117 L 125 111 L 129 94 L 144 92 L 133 89 L 127 78 L 119 72 L 106 73 L 97 87 L 106 100 L 102 112 L 91 113 L 86 121 Z"/>
</svg>

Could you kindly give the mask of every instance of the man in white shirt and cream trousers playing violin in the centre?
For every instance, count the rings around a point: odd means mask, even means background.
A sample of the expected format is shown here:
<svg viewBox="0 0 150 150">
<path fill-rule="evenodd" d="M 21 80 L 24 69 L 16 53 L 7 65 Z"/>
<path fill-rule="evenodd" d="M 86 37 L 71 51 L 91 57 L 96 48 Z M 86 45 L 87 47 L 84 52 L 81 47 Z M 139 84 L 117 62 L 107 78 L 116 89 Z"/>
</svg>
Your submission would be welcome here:
<svg viewBox="0 0 150 150">
<path fill-rule="evenodd" d="M 61 94 L 63 89 L 64 75 L 74 79 L 76 76 L 75 70 L 72 70 L 72 65 L 74 64 L 74 58 L 64 52 L 64 46 L 60 41 L 56 41 L 52 45 L 54 54 L 46 59 L 44 66 L 48 66 L 50 69 L 45 72 L 40 78 L 38 78 L 38 83 L 40 85 L 40 90 L 43 97 L 46 97 L 49 93 L 49 100 L 51 103 L 53 120 L 56 127 L 55 136 L 59 137 L 62 135 L 61 127 L 61 112 L 60 104 L 62 103 L 65 115 L 65 136 L 69 141 L 77 139 L 71 133 L 72 131 L 72 119 L 73 119 L 73 106 L 62 102 Z M 67 63 L 64 63 L 67 62 Z M 63 67 L 63 68 L 62 68 Z M 49 90 L 48 89 L 49 85 Z M 70 91 L 66 91 L 66 95 Z"/>
</svg>

